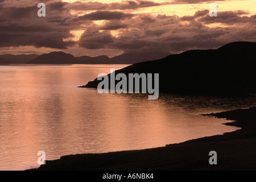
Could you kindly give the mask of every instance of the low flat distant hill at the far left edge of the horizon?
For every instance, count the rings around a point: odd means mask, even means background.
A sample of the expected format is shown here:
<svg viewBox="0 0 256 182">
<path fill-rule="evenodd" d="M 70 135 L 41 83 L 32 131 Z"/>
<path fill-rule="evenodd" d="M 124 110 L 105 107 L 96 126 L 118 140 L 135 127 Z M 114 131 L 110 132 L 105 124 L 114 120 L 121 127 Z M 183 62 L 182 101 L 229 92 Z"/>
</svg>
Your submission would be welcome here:
<svg viewBox="0 0 256 182">
<path fill-rule="evenodd" d="M 0 64 L 25 64 L 39 55 L 0 55 Z"/>
</svg>

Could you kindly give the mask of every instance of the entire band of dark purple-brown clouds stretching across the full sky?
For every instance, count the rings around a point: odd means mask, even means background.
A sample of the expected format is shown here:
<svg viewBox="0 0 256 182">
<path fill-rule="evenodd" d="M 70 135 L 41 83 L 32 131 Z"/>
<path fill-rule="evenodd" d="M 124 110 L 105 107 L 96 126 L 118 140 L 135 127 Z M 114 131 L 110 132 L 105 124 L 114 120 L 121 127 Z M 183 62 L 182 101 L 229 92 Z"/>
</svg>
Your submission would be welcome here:
<svg viewBox="0 0 256 182">
<path fill-rule="evenodd" d="M 256 15 L 249 16 L 246 11 L 218 11 L 217 17 L 210 17 L 209 10 L 201 10 L 191 16 L 179 17 L 165 14 L 131 14 L 124 11 L 164 4 L 152 1 L 107 4 L 50 0 L 42 1 L 46 3 L 46 17 L 39 18 L 39 2 L 0 0 L 0 47 L 34 46 L 63 49 L 77 44 L 87 49 L 175 53 L 193 48 L 217 48 L 234 41 L 256 41 Z M 191 2 L 177 0 L 168 3 Z M 96 11 L 78 16 L 71 14 L 71 10 Z M 97 25 L 94 20 L 104 21 L 103 24 Z M 222 23 L 224 26 L 210 27 L 214 23 Z M 78 42 L 73 42 L 70 40 L 73 36 L 70 34 L 71 30 L 85 32 Z"/>
</svg>

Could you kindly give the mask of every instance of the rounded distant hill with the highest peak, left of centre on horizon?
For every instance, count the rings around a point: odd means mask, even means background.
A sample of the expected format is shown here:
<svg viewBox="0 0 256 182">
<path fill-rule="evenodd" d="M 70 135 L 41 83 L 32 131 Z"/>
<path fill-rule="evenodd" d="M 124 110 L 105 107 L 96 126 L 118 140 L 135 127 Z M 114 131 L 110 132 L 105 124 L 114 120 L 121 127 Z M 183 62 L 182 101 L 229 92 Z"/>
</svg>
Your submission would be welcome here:
<svg viewBox="0 0 256 182">
<path fill-rule="evenodd" d="M 44 53 L 29 61 L 29 64 L 72 64 L 75 57 L 70 53 L 65 52 L 50 52 Z"/>
</svg>

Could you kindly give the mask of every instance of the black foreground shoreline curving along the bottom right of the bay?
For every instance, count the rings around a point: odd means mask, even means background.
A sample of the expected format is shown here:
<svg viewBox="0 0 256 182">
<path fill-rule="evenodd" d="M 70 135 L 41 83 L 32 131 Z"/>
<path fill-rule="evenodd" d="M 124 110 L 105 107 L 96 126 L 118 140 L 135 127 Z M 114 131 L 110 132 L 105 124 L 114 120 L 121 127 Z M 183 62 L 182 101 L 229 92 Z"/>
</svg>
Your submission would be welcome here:
<svg viewBox="0 0 256 182">
<path fill-rule="evenodd" d="M 226 118 L 234 122 L 224 125 L 241 129 L 165 147 L 62 156 L 29 170 L 256 170 L 256 107 L 202 115 Z M 217 152 L 217 165 L 209 164 L 210 151 Z"/>
</svg>

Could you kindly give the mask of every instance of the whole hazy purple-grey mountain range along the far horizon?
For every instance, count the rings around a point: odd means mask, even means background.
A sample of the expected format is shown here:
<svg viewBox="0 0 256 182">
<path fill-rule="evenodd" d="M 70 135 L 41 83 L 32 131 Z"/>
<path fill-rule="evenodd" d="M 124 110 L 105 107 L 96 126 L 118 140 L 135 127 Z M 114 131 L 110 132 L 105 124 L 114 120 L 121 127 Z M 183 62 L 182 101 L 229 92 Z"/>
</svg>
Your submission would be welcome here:
<svg viewBox="0 0 256 182">
<path fill-rule="evenodd" d="M 43 55 L 0 55 L 0 64 L 134 64 L 142 61 L 161 59 L 168 53 L 124 53 L 115 57 L 80 56 L 74 57 L 70 53 L 50 52 Z"/>
</svg>

